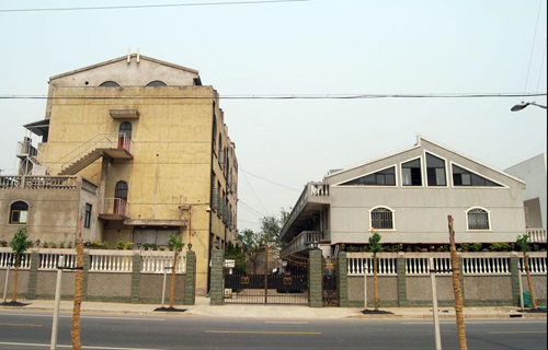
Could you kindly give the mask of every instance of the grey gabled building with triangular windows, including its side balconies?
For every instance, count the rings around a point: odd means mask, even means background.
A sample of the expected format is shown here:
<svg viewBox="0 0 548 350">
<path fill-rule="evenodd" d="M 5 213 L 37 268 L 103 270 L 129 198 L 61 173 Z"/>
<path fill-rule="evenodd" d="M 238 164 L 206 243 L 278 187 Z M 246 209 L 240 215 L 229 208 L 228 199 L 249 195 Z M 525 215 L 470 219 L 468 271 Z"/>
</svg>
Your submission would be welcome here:
<svg viewBox="0 0 548 350">
<path fill-rule="evenodd" d="M 447 244 L 447 217 L 458 243 L 515 242 L 525 233 L 525 183 L 419 137 L 415 145 L 310 183 L 295 205 L 282 256 L 319 242 L 326 254 L 366 244 Z"/>
</svg>

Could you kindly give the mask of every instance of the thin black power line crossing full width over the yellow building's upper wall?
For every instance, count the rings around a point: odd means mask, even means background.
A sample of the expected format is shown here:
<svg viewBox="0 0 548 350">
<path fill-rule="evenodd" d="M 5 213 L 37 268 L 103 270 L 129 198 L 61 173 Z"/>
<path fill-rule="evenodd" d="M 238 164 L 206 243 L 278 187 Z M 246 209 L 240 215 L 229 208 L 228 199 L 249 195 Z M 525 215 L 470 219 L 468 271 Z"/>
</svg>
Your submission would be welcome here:
<svg viewBox="0 0 548 350">
<path fill-rule="evenodd" d="M 540 97 L 546 92 L 529 93 L 431 93 L 431 94 L 272 94 L 272 95 L 218 95 L 218 96 L 46 96 L 0 95 L 0 100 L 375 100 L 375 98 L 505 98 Z"/>
</svg>

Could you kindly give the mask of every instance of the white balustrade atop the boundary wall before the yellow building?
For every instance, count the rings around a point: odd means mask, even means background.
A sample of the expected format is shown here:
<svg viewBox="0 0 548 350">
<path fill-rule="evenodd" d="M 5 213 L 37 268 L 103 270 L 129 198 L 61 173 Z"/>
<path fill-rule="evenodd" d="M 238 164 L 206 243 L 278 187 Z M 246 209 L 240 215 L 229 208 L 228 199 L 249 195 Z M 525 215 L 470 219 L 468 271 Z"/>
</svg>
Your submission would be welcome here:
<svg viewBox="0 0 548 350">
<path fill-rule="evenodd" d="M 21 269 L 31 268 L 31 255 L 37 252 L 39 256 L 38 270 L 54 271 L 57 270 L 59 257 L 65 257 L 64 267 L 75 268 L 76 249 L 30 249 L 24 254 L 21 261 Z M 173 252 L 157 252 L 157 250 L 103 250 L 103 249 L 85 249 L 90 255 L 90 272 L 132 272 L 133 259 L 136 254 L 141 257 L 142 273 L 163 273 L 167 267 L 173 264 Z M 0 268 L 7 268 L 13 259 L 11 248 L 0 248 Z M 186 253 L 182 252 L 179 255 L 176 273 L 186 271 Z"/>
</svg>

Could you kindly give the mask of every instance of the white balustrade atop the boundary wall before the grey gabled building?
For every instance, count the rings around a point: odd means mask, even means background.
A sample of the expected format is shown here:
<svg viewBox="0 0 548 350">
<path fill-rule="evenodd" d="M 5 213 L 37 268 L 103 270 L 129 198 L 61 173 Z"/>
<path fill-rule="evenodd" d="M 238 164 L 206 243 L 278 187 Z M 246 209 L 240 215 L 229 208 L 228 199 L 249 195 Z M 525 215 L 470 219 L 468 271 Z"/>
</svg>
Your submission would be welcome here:
<svg viewBox="0 0 548 350">
<path fill-rule="evenodd" d="M 521 253 L 463 253 L 463 272 L 465 276 L 504 276 L 511 275 L 512 256 L 521 256 Z M 430 275 L 430 258 L 434 259 L 436 275 L 450 275 L 452 264 L 449 253 L 381 253 L 378 255 L 378 275 L 396 276 L 398 256 L 406 259 L 407 276 Z M 529 266 L 533 275 L 547 273 L 546 253 L 530 253 Z M 372 253 L 349 253 L 347 254 L 349 276 L 370 276 L 373 275 Z M 521 268 L 525 272 L 523 258 Z"/>
</svg>

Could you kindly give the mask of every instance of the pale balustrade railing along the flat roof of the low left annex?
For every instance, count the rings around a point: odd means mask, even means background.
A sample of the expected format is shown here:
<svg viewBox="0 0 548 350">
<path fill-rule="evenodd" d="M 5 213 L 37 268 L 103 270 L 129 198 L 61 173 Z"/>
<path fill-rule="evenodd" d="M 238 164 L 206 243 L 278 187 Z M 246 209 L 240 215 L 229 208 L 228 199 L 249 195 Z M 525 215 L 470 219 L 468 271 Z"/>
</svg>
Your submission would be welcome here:
<svg viewBox="0 0 548 350">
<path fill-rule="evenodd" d="M 0 176 L 0 189 L 76 189 L 78 176 Z"/>
</svg>

